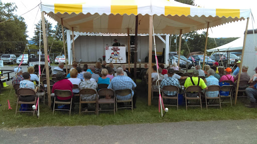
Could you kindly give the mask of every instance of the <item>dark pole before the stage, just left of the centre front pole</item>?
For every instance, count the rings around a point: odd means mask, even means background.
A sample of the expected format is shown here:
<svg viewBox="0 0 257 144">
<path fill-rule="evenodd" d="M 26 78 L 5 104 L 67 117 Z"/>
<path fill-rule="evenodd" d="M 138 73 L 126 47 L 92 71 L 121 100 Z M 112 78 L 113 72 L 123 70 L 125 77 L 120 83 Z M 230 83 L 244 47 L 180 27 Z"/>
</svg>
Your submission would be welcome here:
<svg viewBox="0 0 257 144">
<path fill-rule="evenodd" d="M 135 83 L 137 83 L 138 26 L 139 26 L 139 15 L 136 15 L 135 50 L 134 50 L 134 81 L 135 81 Z"/>
</svg>

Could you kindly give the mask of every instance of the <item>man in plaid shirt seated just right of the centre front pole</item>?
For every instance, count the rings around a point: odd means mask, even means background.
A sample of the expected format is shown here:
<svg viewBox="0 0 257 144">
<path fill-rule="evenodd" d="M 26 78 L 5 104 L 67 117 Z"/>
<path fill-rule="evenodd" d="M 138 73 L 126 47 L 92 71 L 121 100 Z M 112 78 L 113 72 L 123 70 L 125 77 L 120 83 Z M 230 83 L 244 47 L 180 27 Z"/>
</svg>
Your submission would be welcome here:
<svg viewBox="0 0 257 144">
<path fill-rule="evenodd" d="M 174 75 L 174 69 L 169 68 L 168 72 L 168 77 L 164 78 L 160 84 L 160 88 L 163 88 L 165 85 L 175 85 L 180 87 L 179 80 L 177 78 L 172 77 Z M 167 96 L 177 96 L 177 91 L 163 91 L 164 94 Z"/>
</svg>

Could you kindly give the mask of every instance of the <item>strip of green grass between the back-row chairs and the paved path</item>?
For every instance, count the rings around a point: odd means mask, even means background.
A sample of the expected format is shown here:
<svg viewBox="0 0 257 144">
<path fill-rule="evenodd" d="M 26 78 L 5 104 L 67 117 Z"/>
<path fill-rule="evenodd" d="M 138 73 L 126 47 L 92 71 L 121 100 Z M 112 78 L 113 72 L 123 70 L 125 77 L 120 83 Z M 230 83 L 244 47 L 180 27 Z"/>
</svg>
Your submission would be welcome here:
<svg viewBox="0 0 257 144">
<path fill-rule="evenodd" d="M 141 89 L 140 89 L 141 88 Z M 169 107 L 169 112 L 165 117 L 161 117 L 158 112 L 158 99 L 152 101 L 152 105 L 147 105 L 147 92 L 144 84 L 138 81 L 137 88 L 137 108 L 132 113 L 129 109 L 121 109 L 114 115 L 112 111 L 99 112 L 99 116 L 94 113 L 82 113 L 79 115 L 78 107 L 72 111 L 69 116 L 67 111 L 53 111 L 47 105 L 40 105 L 40 118 L 33 116 L 32 113 L 17 113 L 15 115 L 16 103 L 14 103 L 15 92 L 11 86 L 5 87 L 0 96 L 0 128 L 4 127 L 37 127 L 37 126 L 56 126 L 56 125 L 106 125 L 106 124 L 132 124 L 132 123 L 154 123 L 154 122 L 176 122 L 186 120 L 223 120 L 223 119 L 249 119 L 257 118 L 256 108 L 247 108 L 244 106 L 246 98 L 239 98 L 237 104 L 230 106 L 222 104 L 222 110 L 218 106 L 208 107 L 206 110 L 204 103 L 203 109 L 200 107 L 179 106 L 179 110 L 175 106 Z M 7 99 L 11 102 L 13 109 L 8 110 Z M 105 105 L 106 106 L 106 105 Z M 108 105 L 107 105 L 108 106 Z M 19 107 L 19 106 L 18 106 Z M 104 107 L 104 106 L 103 106 Z"/>
</svg>

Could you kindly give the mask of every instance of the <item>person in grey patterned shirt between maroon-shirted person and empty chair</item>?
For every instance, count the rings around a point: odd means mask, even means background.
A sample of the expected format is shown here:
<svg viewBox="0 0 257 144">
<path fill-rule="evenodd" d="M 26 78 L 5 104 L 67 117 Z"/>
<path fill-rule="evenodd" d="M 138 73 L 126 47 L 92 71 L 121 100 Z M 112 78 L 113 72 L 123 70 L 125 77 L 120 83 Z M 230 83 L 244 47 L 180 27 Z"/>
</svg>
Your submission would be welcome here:
<svg viewBox="0 0 257 144">
<path fill-rule="evenodd" d="M 96 90 L 97 83 L 94 80 L 90 80 L 90 78 L 92 77 L 92 74 L 87 71 L 83 74 L 83 77 L 84 77 L 84 81 L 80 82 L 79 89 L 93 88 Z M 93 95 L 81 94 L 81 100 L 93 101 L 93 100 L 95 100 L 95 96 L 96 96 L 96 94 L 93 94 Z M 88 106 L 90 106 L 90 104 Z M 83 107 L 85 107 L 85 106 L 83 106 Z M 87 111 L 87 108 L 85 108 L 84 110 Z"/>
</svg>

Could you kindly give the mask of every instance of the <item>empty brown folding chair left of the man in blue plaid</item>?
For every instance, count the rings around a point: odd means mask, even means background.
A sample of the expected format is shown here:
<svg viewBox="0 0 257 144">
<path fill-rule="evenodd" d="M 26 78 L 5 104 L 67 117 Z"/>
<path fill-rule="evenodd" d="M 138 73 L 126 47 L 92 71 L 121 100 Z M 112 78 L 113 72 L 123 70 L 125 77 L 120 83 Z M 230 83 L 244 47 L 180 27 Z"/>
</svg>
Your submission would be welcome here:
<svg viewBox="0 0 257 144">
<path fill-rule="evenodd" d="M 108 111 L 108 110 L 112 110 L 112 109 L 99 109 L 99 104 L 105 104 L 105 103 L 113 103 L 113 112 L 115 115 L 115 92 L 113 89 L 108 89 L 108 88 L 102 88 L 100 90 L 97 91 L 97 115 L 99 111 Z M 106 95 L 110 95 L 111 98 L 107 99 L 105 98 Z M 100 98 L 103 97 L 103 98 Z"/>
</svg>

